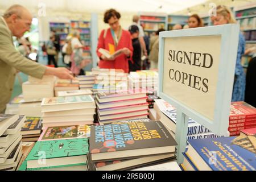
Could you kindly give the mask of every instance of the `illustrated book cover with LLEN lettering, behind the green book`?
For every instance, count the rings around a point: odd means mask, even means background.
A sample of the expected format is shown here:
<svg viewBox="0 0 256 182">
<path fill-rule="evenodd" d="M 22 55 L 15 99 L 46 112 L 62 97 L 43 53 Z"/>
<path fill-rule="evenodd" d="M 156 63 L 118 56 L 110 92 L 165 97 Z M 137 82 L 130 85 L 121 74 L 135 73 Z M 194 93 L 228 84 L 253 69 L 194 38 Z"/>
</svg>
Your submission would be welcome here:
<svg viewBox="0 0 256 182">
<path fill-rule="evenodd" d="M 88 137 L 90 137 L 89 125 L 56 126 L 47 127 L 43 131 L 41 137 L 39 138 L 39 141 Z"/>
</svg>

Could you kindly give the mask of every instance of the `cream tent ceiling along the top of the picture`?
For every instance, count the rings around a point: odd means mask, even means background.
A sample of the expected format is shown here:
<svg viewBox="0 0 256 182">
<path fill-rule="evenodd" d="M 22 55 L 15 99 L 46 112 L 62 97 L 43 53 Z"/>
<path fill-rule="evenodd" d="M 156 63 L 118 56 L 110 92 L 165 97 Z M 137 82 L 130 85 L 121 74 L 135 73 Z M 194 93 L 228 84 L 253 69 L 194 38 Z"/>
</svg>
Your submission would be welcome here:
<svg viewBox="0 0 256 182">
<path fill-rule="evenodd" d="M 102 13 L 106 9 L 114 8 L 122 13 L 153 12 L 170 14 L 206 1 L 207 0 L 1 0 L 0 7 L 3 10 L 13 4 L 19 4 L 29 9 L 38 9 L 40 3 L 45 3 L 46 10 L 48 11 Z"/>
</svg>

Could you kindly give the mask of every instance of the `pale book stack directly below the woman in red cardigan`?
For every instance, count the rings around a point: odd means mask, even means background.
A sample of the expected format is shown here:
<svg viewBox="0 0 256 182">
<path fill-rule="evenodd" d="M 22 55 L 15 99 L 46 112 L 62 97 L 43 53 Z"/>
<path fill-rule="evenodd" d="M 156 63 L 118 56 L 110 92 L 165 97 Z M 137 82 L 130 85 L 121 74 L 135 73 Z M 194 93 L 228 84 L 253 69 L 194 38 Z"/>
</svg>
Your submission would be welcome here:
<svg viewBox="0 0 256 182">
<path fill-rule="evenodd" d="M 119 90 L 127 90 L 127 73 L 122 69 L 92 69 L 95 76 L 93 92 L 115 93 Z"/>
</svg>

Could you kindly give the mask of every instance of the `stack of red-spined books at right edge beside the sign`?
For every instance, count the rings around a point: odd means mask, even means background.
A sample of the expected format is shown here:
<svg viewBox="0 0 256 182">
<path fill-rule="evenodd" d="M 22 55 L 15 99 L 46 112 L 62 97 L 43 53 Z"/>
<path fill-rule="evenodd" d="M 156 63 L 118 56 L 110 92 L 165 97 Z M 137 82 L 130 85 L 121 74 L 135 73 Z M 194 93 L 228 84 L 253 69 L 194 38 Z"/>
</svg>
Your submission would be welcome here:
<svg viewBox="0 0 256 182">
<path fill-rule="evenodd" d="M 256 127 L 256 108 L 246 102 L 232 102 L 229 116 L 230 136 L 240 134 L 240 130 Z"/>
</svg>

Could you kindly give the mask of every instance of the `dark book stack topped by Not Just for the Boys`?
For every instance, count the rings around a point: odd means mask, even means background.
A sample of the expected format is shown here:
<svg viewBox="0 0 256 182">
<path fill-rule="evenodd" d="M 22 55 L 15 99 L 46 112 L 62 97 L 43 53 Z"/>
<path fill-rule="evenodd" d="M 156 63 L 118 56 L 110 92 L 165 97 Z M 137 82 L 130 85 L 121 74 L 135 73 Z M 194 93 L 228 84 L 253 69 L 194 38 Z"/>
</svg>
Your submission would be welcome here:
<svg viewBox="0 0 256 182">
<path fill-rule="evenodd" d="M 89 170 L 127 170 L 176 160 L 175 139 L 159 121 L 117 122 L 91 127 Z"/>
</svg>

